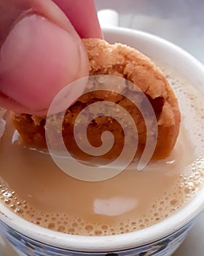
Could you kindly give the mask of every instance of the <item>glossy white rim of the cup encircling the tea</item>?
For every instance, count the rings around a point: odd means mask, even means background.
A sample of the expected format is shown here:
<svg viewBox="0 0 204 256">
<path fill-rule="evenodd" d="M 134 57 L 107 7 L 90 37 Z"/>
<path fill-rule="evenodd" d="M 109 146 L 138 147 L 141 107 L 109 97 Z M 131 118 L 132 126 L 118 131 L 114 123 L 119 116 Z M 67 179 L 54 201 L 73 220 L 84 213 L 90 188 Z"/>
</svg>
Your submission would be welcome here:
<svg viewBox="0 0 204 256">
<path fill-rule="evenodd" d="M 165 47 L 174 50 L 178 56 L 183 56 L 192 64 L 196 69 L 204 75 L 204 66 L 197 61 L 195 57 L 191 56 L 185 50 L 179 48 L 171 42 L 165 39 L 154 36 L 152 34 L 137 31 L 133 29 L 125 28 L 109 28 L 103 29 L 105 33 L 120 33 L 133 35 L 133 37 L 141 37 L 142 39 L 152 39 L 159 45 L 165 45 Z M 201 87 L 201 86 L 200 86 Z M 176 230 L 179 230 L 184 225 L 187 225 L 197 214 L 204 208 L 204 187 L 197 192 L 195 197 L 182 207 L 176 213 L 164 219 L 161 222 L 146 227 L 144 230 L 137 230 L 131 233 L 124 233 L 114 236 L 76 236 L 57 231 L 48 230 L 44 227 L 39 227 L 25 219 L 17 216 L 15 213 L 9 210 L 6 206 L 0 204 L 0 219 L 9 227 L 12 227 L 17 232 L 27 236 L 28 238 L 40 241 L 42 244 L 49 244 L 50 246 L 56 246 L 63 249 L 69 249 L 74 251 L 103 251 L 107 252 L 113 249 L 130 249 L 137 246 L 147 245 L 153 241 L 158 241 L 160 238 L 165 238 Z"/>
</svg>

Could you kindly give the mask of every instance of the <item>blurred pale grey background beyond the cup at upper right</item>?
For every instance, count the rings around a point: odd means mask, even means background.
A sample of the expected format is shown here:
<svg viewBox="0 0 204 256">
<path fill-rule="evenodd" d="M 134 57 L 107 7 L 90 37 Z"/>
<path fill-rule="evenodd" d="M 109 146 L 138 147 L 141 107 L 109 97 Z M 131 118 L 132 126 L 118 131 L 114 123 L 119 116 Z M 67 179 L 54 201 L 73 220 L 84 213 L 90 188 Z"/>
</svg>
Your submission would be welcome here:
<svg viewBox="0 0 204 256">
<path fill-rule="evenodd" d="M 203 0 L 95 0 L 97 10 L 119 13 L 119 26 L 155 34 L 204 63 Z"/>
</svg>

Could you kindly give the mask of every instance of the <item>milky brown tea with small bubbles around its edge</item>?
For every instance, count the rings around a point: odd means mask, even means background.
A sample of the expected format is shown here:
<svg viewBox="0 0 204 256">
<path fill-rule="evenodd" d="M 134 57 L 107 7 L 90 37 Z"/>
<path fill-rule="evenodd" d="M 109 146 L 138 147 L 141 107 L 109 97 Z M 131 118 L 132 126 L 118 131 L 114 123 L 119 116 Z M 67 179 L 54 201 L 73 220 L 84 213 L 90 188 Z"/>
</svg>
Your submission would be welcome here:
<svg viewBox="0 0 204 256">
<path fill-rule="evenodd" d="M 188 81 L 167 70 L 181 110 L 180 135 L 170 157 L 141 172 L 127 169 L 106 181 L 79 181 L 48 154 L 23 146 L 6 113 L 1 202 L 36 225 L 85 236 L 140 230 L 184 206 L 204 184 L 204 101 Z"/>
</svg>

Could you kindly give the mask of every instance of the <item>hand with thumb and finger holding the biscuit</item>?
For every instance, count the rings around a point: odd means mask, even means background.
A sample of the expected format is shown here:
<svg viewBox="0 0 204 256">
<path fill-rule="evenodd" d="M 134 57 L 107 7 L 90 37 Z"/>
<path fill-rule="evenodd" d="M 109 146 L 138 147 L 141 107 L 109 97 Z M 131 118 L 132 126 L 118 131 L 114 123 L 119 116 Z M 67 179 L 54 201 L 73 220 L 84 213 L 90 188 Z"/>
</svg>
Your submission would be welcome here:
<svg viewBox="0 0 204 256">
<path fill-rule="evenodd" d="M 0 0 L 0 107 L 46 114 L 88 75 L 80 37 L 103 37 L 94 0 Z"/>
</svg>

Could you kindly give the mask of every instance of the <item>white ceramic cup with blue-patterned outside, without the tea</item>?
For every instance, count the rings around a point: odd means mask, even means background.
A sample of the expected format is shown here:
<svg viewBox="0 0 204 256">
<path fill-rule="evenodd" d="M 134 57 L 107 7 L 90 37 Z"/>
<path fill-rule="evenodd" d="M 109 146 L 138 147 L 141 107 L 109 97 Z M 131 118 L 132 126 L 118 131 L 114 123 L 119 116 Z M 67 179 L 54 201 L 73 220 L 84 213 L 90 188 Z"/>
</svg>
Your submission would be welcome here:
<svg viewBox="0 0 204 256">
<path fill-rule="evenodd" d="M 192 80 L 204 92 L 204 67 L 187 52 L 170 42 L 131 29 L 104 29 L 108 42 L 132 46 L 154 61 L 166 63 Z M 204 187 L 195 198 L 164 221 L 114 236 L 74 236 L 34 225 L 0 205 L 1 233 L 25 255 L 172 255 L 184 240 L 192 221 L 204 208 Z"/>
</svg>

